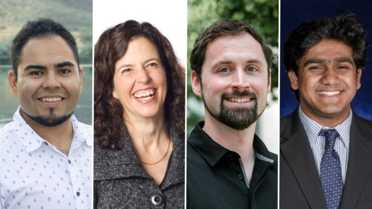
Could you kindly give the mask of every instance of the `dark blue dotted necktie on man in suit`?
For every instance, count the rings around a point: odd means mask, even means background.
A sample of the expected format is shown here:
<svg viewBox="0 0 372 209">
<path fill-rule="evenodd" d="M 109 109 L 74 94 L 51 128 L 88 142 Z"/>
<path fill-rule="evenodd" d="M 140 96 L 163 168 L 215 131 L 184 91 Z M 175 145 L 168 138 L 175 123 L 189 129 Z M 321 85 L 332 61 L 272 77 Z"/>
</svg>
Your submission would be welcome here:
<svg viewBox="0 0 372 209">
<path fill-rule="evenodd" d="M 327 209 L 338 209 L 341 202 L 343 181 L 340 157 L 335 141 L 339 133 L 335 129 L 322 129 L 320 136 L 325 136 L 325 151 L 320 162 L 320 180 L 322 181 Z"/>
</svg>

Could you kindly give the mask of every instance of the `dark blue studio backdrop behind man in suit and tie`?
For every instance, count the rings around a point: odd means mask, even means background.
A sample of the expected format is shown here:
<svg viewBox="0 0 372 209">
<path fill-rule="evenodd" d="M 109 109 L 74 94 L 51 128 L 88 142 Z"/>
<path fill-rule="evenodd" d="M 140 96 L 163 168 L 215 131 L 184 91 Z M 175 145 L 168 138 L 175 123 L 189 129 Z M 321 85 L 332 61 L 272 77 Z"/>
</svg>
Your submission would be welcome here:
<svg viewBox="0 0 372 209">
<path fill-rule="evenodd" d="M 367 29 L 368 60 L 362 72 L 361 88 L 351 107 L 357 115 L 372 120 L 372 0 L 281 0 L 280 1 L 280 56 L 288 35 L 301 23 L 315 18 L 335 16 L 338 10 L 350 11 Z M 280 58 L 280 118 L 289 115 L 298 102 L 291 91 L 290 81 Z"/>
</svg>

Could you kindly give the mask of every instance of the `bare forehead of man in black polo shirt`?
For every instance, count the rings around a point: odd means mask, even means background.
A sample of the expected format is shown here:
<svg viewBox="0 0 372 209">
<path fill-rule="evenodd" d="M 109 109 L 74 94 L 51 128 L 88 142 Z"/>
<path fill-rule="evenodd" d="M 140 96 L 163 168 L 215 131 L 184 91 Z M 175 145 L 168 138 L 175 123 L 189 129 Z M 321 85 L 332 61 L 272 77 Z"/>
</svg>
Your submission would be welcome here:
<svg viewBox="0 0 372 209">
<path fill-rule="evenodd" d="M 249 33 L 220 36 L 211 41 L 206 48 L 204 64 L 217 62 L 246 62 L 260 60 L 262 67 L 267 68 L 267 62 L 260 43 Z"/>
</svg>

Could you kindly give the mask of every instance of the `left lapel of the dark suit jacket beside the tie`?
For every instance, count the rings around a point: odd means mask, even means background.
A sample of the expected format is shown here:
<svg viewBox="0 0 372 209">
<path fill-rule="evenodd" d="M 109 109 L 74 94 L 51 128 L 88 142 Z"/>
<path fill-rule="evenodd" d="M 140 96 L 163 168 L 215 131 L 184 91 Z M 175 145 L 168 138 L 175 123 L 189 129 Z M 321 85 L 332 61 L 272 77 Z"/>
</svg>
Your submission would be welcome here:
<svg viewBox="0 0 372 209">
<path fill-rule="evenodd" d="M 298 108 L 288 118 L 280 135 L 280 151 L 291 168 L 310 208 L 326 208 L 313 153 Z"/>
</svg>

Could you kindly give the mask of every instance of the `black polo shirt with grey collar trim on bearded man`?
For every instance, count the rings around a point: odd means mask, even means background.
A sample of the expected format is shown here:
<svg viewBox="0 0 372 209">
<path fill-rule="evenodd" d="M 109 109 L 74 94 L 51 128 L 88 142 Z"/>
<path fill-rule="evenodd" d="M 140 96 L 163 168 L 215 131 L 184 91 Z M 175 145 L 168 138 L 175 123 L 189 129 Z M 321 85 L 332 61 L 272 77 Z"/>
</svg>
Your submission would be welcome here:
<svg viewBox="0 0 372 209">
<path fill-rule="evenodd" d="M 187 209 L 277 209 L 278 155 L 255 134 L 252 178 L 246 184 L 240 156 L 217 144 L 198 122 L 187 138 Z"/>
</svg>

